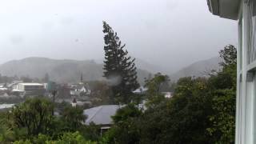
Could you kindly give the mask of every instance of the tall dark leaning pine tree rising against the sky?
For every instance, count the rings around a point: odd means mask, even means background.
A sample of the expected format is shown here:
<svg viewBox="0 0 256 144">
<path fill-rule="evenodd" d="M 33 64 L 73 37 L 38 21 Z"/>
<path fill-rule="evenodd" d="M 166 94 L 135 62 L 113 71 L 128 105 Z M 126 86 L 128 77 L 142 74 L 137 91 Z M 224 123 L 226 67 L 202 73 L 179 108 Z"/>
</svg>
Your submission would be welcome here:
<svg viewBox="0 0 256 144">
<path fill-rule="evenodd" d="M 105 41 L 104 77 L 110 82 L 112 89 L 111 103 L 128 103 L 132 91 L 138 88 L 135 58 L 128 56 L 126 45 L 122 45 L 117 33 L 103 22 Z"/>
</svg>

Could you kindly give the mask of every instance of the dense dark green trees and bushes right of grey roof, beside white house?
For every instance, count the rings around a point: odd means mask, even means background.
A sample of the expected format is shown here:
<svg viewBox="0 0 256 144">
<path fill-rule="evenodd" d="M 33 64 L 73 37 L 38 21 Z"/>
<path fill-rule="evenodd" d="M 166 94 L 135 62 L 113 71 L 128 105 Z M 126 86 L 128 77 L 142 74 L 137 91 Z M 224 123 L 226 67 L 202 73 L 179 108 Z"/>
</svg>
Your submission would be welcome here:
<svg viewBox="0 0 256 144">
<path fill-rule="evenodd" d="M 118 110 L 104 142 L 234 143 L 236 51 L 226 46 L 220 54 L 222 71 L 210 78 L 180 78 L 173 98 L 160 94 L 167 77 L 147 80 L 147 110 L 137 114 L 130 105 Z"/>
</svg>

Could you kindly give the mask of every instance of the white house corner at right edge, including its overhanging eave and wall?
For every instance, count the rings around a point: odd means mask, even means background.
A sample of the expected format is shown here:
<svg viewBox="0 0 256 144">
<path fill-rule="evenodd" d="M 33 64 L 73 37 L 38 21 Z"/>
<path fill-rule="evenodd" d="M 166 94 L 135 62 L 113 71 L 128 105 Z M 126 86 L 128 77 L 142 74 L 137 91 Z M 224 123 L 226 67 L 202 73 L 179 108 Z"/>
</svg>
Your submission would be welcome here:
<svg viewBox="0 0 256 144">
<path fill-rule="evenodd" d="M 207 0 L 212 14 L 238 22 L 236 144 L 256 143 L 256 1 Z"/>
</svg>

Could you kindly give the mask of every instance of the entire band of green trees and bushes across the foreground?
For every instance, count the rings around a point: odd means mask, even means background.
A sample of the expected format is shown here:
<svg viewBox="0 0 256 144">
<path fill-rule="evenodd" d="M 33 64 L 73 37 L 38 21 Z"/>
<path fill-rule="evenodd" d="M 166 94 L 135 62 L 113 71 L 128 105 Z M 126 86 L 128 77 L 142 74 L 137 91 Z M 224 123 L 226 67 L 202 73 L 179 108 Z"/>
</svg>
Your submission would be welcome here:
<svg viewBox="0 0 256 144">
<path fill-rule="evenodd" d="M 107 27 L 106 27 L 107 28 Z M 110 28 L 110 27 L 109 27 Z M 111 30 L 110 30 L 111 31 Z M 110 34 L 116 34 L 111 31 Z M 113 35 L 112 35 L 113 36 Z M 106 37 L 108 37 L 106 35 Z M 110 39 L 108 39 L 110 40 Z M 121 44 L 120 44 L 121 46 Z M 100 126 L 83 126 L 79 107 L 59 105 L 62 116 L 51 115 L 54 105 L 44 98 L 31 98 L 6 113 L 0 113 L 0 142 L 14 144 L 106 143 L 234 143 L 236 50 L 220 52 L 222 70 L 210 78 L 180 78 L 173 84 L 174 96 L 164 98 L 169 86 L 166 75 L 146 81 L 146 110 L 138 110 L 141 99 L 127 104 L 112 117 L 114 125 L 100 138 Z M 95 87 L 105 85 L 95 85 Z M 166 88 L 164 88 L 166 89 Z M 95 88 L 96 90 L 96 88 Z M 128 102 L 128 101 L 127 101 Z"/>
</svg>

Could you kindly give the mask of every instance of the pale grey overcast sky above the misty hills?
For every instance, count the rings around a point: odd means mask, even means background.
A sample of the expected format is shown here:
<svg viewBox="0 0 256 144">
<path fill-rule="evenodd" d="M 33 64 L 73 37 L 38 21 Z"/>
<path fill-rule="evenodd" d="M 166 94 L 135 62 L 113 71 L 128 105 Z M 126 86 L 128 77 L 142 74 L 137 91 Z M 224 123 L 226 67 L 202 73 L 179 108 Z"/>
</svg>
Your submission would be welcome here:
<svg viewBox="0 0 256 144">
<path fill-rule="evenodd" d="M 102 59 L 103 20 L 133 57 L 174 70 L 238 46 L 237 22 L 210 14 L 206 0 L 6 0 L 0 18 L 0 63 Z"/>
</svg>

